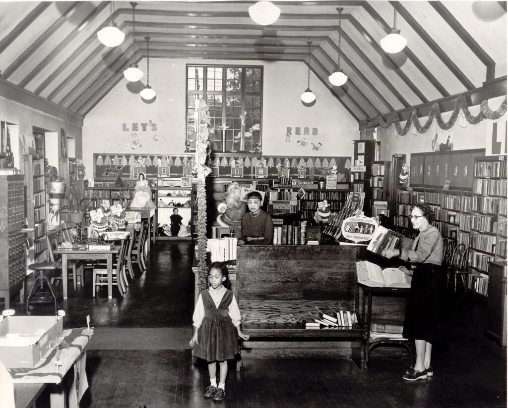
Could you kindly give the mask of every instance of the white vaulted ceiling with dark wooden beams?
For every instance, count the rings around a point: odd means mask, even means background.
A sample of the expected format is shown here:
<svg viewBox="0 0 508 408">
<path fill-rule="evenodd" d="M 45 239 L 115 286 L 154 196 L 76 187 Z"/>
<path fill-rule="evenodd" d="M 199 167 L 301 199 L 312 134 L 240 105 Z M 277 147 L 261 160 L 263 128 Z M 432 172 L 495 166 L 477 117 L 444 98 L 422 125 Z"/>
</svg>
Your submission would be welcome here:
<svg viewBox="0 0 508 408">
<path fill-rule="evenodd" d="M 482 87 L 506 75 L 506 2 L 397 2 L 398 54 L 379 46 L 393 26 L 388 1 L 279 1 L 279 19 L 260 26 L 254 2 L 139 2 L 134 60 L 203 58 L 301 61 L 358 121 Z M 337 65 L 349 80 L 332 87 Z M 97 31 L 112 18 L 126 35 L 115 48 Z M 128 2 L 0 2 L 2 78 L 85 116 L 123 78 L 134 34 Z M 206 61 L 204 61 L 206 62 Z"/>
</svg>

